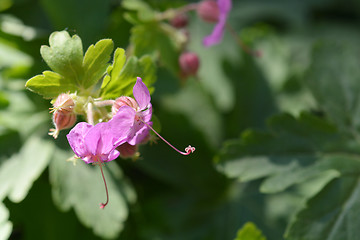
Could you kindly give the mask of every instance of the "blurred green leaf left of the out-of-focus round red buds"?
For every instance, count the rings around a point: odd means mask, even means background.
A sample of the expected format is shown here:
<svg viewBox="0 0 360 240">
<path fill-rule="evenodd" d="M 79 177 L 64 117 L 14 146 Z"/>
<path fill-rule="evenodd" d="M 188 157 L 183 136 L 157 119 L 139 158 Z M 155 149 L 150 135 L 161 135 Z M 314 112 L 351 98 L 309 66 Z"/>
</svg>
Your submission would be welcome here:
<svg viewBox="0 0 360 240">
<path fill-rule="evenodd" d="M 178 73 L 180 48 L 185 40 L 181 33 L 170 25 L 157 22 L 137 25 L 131 31 L 130 41 L 136 56 L 159 57 L 161 64 Z"/>
</svg>

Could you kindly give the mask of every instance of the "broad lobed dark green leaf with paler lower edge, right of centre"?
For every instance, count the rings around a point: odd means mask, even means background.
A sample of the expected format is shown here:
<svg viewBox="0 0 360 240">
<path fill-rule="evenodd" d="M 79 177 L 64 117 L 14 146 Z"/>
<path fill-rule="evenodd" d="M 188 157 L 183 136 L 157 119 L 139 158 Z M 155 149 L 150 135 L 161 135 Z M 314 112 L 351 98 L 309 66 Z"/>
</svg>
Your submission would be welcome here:
<svg viewBox="0 0 360 240">
<path fill-rule="evenodd" d="M 266 177 L 261 191 L 279 192 L 324 171 L 337 170 L 320 153 L 341 145 L 336 128 L 325 120 L 305 113 L 299 119 L 282 114 L 269 120 L 268 132 L 247 131 L 240 140 L 227 142 L 217 158 L 218 169 L 240 181 Z"/>
</svg>

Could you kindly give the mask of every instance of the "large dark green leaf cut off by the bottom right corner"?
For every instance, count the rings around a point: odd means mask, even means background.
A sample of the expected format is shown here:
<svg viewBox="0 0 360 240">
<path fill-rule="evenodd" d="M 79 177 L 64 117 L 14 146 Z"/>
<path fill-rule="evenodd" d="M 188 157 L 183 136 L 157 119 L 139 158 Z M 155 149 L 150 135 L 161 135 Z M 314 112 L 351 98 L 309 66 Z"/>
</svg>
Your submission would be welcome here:
<svg viewBox="0 0 360 240">
<path fill-rule="evenodd" d="M 287 239 L 337 240 L 359 236 L 359 159 L 344 156 L 338 160 L 348 162 L 348 165 L 354 163 L 352 171 L 331 181 L 306 203 L 288 228 Z"/>
</svg>

